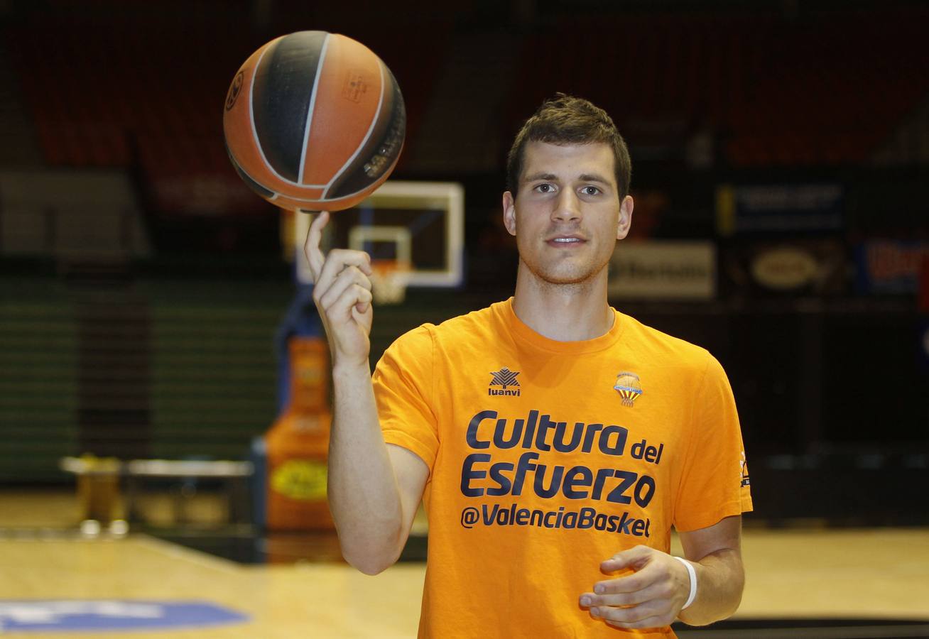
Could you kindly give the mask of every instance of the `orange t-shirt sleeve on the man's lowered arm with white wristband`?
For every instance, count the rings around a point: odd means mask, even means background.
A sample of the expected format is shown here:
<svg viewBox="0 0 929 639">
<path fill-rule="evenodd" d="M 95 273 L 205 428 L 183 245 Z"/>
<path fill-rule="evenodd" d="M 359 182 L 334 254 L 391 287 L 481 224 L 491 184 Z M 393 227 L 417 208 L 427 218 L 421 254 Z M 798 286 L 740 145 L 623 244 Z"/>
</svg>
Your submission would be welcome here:
<svg viewBox="0 0 929 639">
<path fill-rule="evenodd" d="M 674 528 L 696 530 L 752 510 L 736 400 L 720 363 L 708 354 L 694 397 Z"/>
</svg>

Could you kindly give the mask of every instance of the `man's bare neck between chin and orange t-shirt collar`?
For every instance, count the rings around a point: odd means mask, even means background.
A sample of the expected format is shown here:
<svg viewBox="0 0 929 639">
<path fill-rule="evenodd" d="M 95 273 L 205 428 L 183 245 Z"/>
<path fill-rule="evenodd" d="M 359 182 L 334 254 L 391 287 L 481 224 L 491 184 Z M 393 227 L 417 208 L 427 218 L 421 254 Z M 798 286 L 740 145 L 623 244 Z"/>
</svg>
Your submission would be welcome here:
<svg viewBox="0 0 929 639">
<path fill-rule="evenodd" d="M 604 335 L 615 320 L 607 302 L 607 269 L 591 280 L 553 284 L 534 277 L 520 264 L 513 310 L 530 329 L 559 342 Z"/>
</svg>

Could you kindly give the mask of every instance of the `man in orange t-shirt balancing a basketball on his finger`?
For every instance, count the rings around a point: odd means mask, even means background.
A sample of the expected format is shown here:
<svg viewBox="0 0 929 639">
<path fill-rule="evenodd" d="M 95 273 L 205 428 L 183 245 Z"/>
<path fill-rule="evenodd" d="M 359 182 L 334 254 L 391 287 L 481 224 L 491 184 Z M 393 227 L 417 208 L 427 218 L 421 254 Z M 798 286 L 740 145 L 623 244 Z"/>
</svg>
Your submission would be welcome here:
<svg viewBox="0 0 929 639">
<path fill-rule="evenodd" d="M 349 563 L 380 572 L 425 500 L 420 636 L 668 637 L 674 619 L 739 606 L 752 506 L 726 374 L 608 306 L 629 180 L 606 112 L 562 94 L 544 103 L 509 155 L 516 293 L 402 335 L 373 379 L 369 258 L 321 254 L 328 214 L 310 227 L 339 539 Z M 686 560 L 668 554 L 672 526 Z"/>
</svg>

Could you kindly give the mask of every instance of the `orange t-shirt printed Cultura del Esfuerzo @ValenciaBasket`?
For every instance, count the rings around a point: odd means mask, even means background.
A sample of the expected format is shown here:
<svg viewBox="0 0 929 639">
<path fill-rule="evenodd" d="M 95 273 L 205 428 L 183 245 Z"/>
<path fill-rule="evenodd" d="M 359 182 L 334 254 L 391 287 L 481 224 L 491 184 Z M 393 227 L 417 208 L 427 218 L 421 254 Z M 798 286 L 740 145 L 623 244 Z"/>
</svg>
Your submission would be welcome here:
<svg viewBox="0 0 929 639">
<path fill-rule="evenodd" d="M 719 362 L 622 313 L 557 342 L 511 299 L 402 335 L 373 381 L 386 442 L 429 467 L 420 637 L 673 637 L 578 600 L 613 554 L 752 510 Z"/>
</svg>

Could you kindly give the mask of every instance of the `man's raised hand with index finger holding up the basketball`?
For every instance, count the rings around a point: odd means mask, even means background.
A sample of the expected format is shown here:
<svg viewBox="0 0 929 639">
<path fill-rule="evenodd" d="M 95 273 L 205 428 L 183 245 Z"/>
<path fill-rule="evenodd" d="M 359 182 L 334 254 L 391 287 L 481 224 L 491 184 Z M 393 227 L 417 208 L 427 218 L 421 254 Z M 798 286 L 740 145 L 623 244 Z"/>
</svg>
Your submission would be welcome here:
<svg viewBox="0 0 929 639">
<path fill-rule="evenodd" d="M 333 249 L 322 254 L 322 229 L 329 212 L 317 214 L 309 225 L 304 251 L 313 276 L 313 301 L 329 338 L 333 366 L 368 365 L 371 352 L 371 256 L 363 251 Z"/>
</svg>

